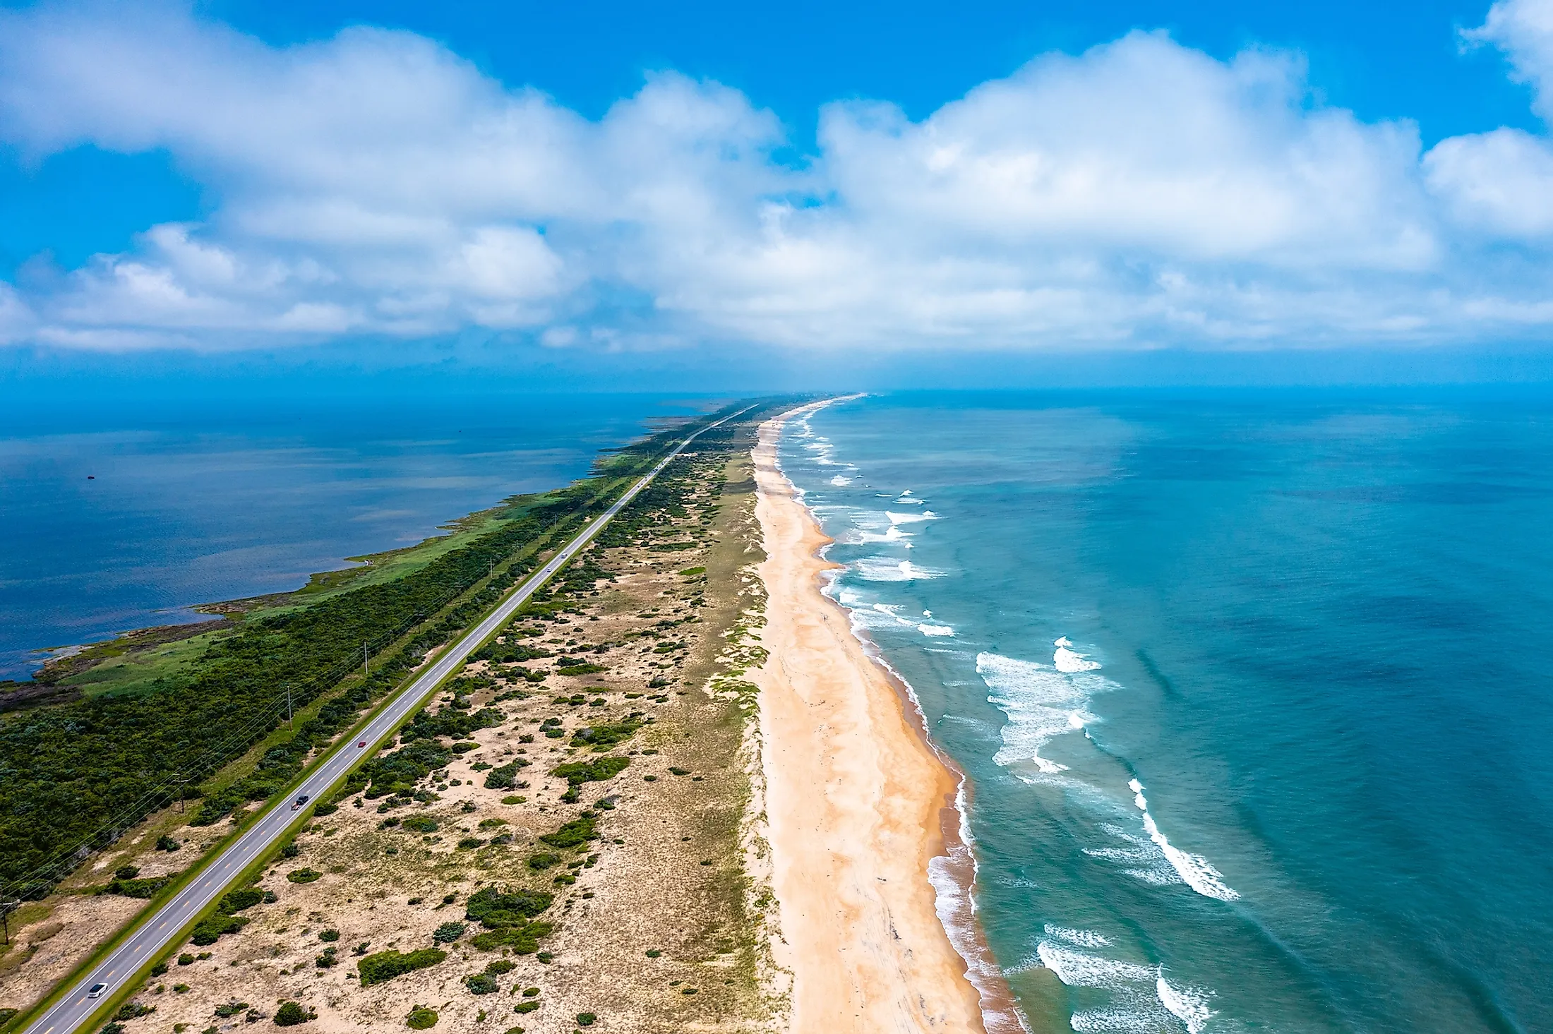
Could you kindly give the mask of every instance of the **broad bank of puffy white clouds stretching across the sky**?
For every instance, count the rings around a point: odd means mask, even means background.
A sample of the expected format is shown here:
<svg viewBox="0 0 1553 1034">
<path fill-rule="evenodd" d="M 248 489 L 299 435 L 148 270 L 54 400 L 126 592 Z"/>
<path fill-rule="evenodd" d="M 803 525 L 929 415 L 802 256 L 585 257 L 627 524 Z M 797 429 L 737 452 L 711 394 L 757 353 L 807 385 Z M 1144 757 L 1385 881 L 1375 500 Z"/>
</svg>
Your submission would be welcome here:
<svg viewBox="0 0 1553 1034">
<path fill-rule="evenodd" d="M 1469 34 L 1544 115 L 1548 11 L 1505 0 Z M 216 199 L 0 284 L 0 342 L 1320 345 L 1553 318 L 1544 137 L 1421 155 L 1412 123 L 1314 99 L 1297 54 L 1160 33 L 1036 57 L 921 121 L 831 104 L 790 161 L 769 110 L 672 73 L 585 120 L 412 33 L 270 47 L 185 8 L 45 6 L 0 16 L 0 138 L 165 149 Z"/>
</svg>

